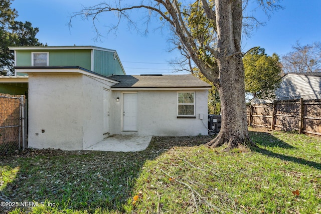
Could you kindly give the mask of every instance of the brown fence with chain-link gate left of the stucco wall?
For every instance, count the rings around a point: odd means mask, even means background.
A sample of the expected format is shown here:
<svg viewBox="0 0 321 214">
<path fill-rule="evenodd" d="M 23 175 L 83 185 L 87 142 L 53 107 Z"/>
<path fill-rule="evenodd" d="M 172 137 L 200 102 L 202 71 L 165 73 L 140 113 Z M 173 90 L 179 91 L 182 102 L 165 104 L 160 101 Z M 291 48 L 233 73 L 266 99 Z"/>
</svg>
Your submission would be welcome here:
<svg viewBox="0 0 321 214">
<path fill-rule="evenodd" d="M 0 155 L 27 147 L 24 95 L 0 94 Z"/>
</svg>

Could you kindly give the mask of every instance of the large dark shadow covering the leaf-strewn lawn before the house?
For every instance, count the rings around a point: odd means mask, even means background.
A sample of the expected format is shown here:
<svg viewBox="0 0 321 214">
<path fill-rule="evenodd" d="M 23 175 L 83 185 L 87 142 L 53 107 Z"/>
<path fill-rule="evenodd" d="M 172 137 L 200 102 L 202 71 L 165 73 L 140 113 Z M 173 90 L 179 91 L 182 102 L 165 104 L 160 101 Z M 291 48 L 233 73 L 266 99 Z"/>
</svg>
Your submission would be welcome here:
<svg viewBox="0 0 321 214">
<path fill-rule="evenodd" d="M 19 166 L 17 175 L 0 192 L 0 201 L 50 201 L 59 203 L 58 210 L 63 211 L 94 213 L 101 208 L 123 213 L 124 204 L 137 194 L 133 188 L 147 161 L 173 147 L 196 146 L 210 139 L 153 137 L 147 149 L 140 152 L 28 149 L 0 160 L 0 167 Z M 0 212 L 13 208 L 0 207 Z"/>
</svg>

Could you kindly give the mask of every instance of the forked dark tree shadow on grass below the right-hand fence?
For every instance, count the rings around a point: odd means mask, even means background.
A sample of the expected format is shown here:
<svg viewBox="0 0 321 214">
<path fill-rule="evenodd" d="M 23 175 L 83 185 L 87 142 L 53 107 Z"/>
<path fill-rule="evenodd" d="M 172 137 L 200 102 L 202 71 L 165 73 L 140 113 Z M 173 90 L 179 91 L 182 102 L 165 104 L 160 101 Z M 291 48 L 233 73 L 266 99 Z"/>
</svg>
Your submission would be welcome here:
<svg viewBox="0 0 321 214">
<path fill-rule="evenodd" d="M 285 148 L 285 149 L 296 149 L 294 146 L 291 146 L 288 143 L 286 143 L 286 142 L 284 142 L 284 141 L 282 141 L 282 140 L 280 140 L 280 139 L 278 139 L 278 138 L 276 138 L 266 132 L 263 133 L 263 132 L 249 131 L 249 135 L 250 135 L 251 139 L 256 144 L 259 144 L 262 146 L 281 147 L 281 148 Z M 307 165 L 307 166 L 321 170 L 321 163 L 318 163 L 318 162 L 305 160 L 300 157 L 293 157 L 293 156 L 289 156 L 289 155 L 285 155 L 285 154 L 278 154 L 278 153 L 275 153 L 275 152 L 270 151 L 268 149 L 260 148 L 260 147 L 253 147 L 253 148 L 251 148 L 251 150 L 261 153 L 263 155 L 269 156 L 269 157 L 275 157 L 275 158 L 279 158 L 281 160 L 291 161 L 294 163 Z"/>
</svg>

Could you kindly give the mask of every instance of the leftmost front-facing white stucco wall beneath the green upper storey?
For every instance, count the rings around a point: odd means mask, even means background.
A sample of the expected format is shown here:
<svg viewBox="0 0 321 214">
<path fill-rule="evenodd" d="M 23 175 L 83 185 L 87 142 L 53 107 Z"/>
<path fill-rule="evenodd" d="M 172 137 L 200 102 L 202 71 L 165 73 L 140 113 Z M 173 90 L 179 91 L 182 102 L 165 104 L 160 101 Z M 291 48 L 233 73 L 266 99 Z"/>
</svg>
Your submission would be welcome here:
<svg viewBox="0 0 321 214">
<path fill-rule="evenodd" d="M 82 148 L 81 82 L 81 74 L 29 74 L 30 147 Z"/>
</svg>

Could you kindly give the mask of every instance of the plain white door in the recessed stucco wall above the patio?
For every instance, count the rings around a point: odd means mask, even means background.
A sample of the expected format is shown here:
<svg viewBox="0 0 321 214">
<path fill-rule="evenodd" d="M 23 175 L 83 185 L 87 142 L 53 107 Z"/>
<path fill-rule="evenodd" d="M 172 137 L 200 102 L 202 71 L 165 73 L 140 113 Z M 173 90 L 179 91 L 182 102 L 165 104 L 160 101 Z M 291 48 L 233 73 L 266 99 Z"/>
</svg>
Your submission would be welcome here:
<svg viewBox="0 0 321 214">
<path fill-rule="evenodd" d="M 123 94 L 123 131 L 137 131 L 137 93 Z"/>
</svg>

